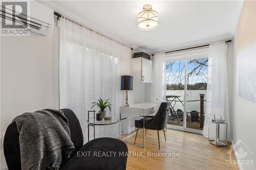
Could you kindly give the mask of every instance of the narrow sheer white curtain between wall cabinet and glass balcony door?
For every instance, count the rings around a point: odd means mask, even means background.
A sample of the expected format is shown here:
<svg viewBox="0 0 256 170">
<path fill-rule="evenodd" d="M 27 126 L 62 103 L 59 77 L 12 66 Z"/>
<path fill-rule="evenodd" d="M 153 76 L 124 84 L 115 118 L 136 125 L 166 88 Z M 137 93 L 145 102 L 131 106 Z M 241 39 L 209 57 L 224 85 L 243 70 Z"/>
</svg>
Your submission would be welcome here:
<svg viewBox="0 0 256 170">
<path fill-rule="evenodd" d="M 165 92 L 165 53 L 159 53 L 154 55 L 153 60 L 153 77 L 151 85 L 151 102 L 163 102 Z"/>
</svg>

